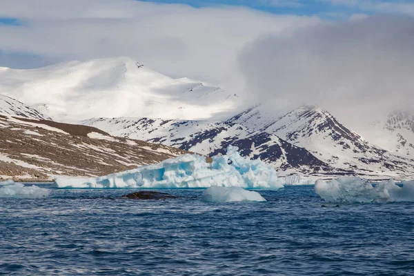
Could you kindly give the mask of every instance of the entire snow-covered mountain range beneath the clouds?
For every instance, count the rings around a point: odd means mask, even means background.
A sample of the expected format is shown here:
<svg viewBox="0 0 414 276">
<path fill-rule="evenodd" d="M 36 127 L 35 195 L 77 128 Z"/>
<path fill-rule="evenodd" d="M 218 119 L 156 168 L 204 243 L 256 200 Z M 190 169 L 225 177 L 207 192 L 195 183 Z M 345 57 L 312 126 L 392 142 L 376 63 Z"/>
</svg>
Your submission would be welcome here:
<svg viewBox="0 0 414 276">
<path fill-rule="evenodd" d="M 0 94 L 30 105 L 2 97 L 0 112 L 8 115 L 82 121 L 110 135 L 209 156 L 233 144 L 284 173 L 414 174 L 414 119 L 406 113 L 393 113 L 359 135 L 317 106 L 274 110 L 262 103 L 241 111 L 242 97 L 202 81 L 172 79 L 126 57 L 0 68 L 0 80 Z"/>
</svg>

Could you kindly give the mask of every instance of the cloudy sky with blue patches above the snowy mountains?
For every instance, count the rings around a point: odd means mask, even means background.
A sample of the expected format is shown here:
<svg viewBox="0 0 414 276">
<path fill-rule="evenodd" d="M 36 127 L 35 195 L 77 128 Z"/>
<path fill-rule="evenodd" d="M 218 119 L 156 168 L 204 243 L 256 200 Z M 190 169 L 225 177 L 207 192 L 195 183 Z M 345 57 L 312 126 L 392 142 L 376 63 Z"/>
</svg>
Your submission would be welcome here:
<svg viewBox="0 0 414 276">
<path fill-rule="evenodd" d="M 127 56 L 357 127 L 410 108 L 413 16 L 413 0 L 1 0 L 0 66 Z"/>
</svg>

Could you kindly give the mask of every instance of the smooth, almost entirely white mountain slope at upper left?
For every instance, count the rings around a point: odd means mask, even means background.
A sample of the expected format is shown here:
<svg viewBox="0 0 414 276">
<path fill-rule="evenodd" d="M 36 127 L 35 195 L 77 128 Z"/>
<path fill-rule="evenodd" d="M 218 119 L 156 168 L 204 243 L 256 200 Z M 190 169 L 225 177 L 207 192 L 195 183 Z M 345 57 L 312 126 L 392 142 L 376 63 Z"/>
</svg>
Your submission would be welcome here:
<svg viewBox="0 0 414 276">
<path fill-rule="evenodd" d="M 127 57 L 69 61 L 33 70 L 0 68 L 0 94 L 59 121 L 91 117 L 203 119 L 235 106 L 237 95 L 172 79 Z"/>
</svg>

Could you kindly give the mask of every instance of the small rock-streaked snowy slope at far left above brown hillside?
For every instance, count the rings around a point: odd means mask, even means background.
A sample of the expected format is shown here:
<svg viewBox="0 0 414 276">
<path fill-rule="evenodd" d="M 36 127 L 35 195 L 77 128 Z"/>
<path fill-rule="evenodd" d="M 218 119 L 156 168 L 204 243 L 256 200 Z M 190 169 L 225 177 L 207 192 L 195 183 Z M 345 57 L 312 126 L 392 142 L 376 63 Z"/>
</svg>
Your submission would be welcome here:
<svg viewBox="0 0 414 276">
<path fill-rule="evenodd" d="M 39 112 L 39 110 L 26 106 L 26 104 L 21 101 L 17 101 L 4 95 L 0 95 L 0 114 L 15 115 L 30 119 L 50 119 L 48 116 Z"/>
</svg>

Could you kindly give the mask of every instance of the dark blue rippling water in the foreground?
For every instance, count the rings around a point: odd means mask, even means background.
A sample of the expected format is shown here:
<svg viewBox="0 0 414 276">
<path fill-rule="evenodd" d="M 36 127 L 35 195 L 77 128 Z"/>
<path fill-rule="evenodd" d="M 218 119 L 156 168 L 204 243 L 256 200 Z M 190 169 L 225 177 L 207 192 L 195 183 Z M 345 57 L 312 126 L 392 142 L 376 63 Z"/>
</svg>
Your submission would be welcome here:
<svg viewBox="0 0 414 276">
<path fill-rule="evenodd" d="M 2 275 L 413 275 L 414 204 L 322 207 L 313 187 L 268 201 L 114 199 L 57 190 L 0 199 Z"/>
</svg>

